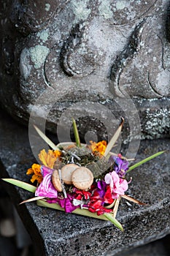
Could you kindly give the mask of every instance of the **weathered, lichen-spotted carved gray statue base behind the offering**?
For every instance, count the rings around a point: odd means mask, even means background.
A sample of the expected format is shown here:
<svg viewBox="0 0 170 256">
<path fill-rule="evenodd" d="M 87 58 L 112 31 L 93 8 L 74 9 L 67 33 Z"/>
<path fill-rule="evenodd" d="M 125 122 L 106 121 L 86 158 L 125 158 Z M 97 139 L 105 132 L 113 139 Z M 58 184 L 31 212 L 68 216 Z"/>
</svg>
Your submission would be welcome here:
<svg viewBox="0 0 170 256">
<path fill-rule="evenodd" d="M 122 115 L 116 99 L 128 97 L 139 110 L 142 138 L 169 135 L 169 0 L 0 4 L 0 102 L 12 116 L 28 123 L 31 111 L 40 118 L 49 112 L 53 131 L 75 108 L 83 134 L 86 124 L 96 130 L 94 116 L 102 123 Z M 97 115 L 94 102 L 102 107 Z M 125 115 L 128 136 L 132 114 Z"/>
</svg>

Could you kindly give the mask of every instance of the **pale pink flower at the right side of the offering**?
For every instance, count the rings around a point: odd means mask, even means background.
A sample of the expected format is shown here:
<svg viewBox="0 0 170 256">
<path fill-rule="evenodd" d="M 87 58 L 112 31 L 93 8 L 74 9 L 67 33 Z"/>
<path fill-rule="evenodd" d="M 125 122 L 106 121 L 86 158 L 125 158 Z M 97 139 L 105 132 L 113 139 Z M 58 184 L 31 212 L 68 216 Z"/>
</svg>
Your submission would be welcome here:
<svg viewBox="0 0 170 256">
<path fill-rule="evenodd" d="M 115 170 L 112 173 L 107 173 L 104 180 L 111 187 L 112 198 L 114 199 L 117 199 L 120 195 L 124 195 L 128 189 L 128 182 L 120 178 Z"/>
</svg>

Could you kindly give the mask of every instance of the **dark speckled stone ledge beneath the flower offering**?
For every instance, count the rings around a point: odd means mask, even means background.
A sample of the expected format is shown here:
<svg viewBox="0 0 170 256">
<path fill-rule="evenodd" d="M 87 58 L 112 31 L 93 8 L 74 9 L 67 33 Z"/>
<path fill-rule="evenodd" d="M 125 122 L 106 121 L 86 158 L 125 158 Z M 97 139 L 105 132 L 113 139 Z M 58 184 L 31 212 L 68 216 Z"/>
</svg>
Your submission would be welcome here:
<svg viewBox="0 0 170 256">
<path fill-rule="evenodd" d="M 35 161 L 28 129 L 2 113 L 0 129 L 1 177 L 28 182 L 26 170 Z M 129 175 L 133 181 L 128 195 L 148 206 L 130 206 L 122 200 L 117 219 L 123 224 L 124 233 L 109 222 L 65 214 L 36 206 L 36 203 L 19 206 L 22 200 L 32 196 L 31 193 L 1 181 L 36 246 L 36 255 L 115 255 L 170 233 L 169 142 L 169 139 L 141 142 L 137 161 L 163 149 L 168 151 Z"/>
</svg>

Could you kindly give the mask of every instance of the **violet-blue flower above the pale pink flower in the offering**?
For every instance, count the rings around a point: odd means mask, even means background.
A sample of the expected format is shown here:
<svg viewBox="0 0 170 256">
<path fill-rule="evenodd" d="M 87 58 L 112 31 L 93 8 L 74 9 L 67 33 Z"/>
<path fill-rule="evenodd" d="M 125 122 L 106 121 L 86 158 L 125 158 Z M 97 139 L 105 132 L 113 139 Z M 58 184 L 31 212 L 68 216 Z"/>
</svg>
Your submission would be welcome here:
<svg viewBox="0 0 170 256">
<path fill-rule="evenodd" d="M 126 170 L 128 170 L 128 161 L 125 159 L 121 159 L 120 157 L 109 157 L 109 162 L 114 164 L 113 170 L 118 174 L 120 177 L 125 176 Z"/>
</svg>

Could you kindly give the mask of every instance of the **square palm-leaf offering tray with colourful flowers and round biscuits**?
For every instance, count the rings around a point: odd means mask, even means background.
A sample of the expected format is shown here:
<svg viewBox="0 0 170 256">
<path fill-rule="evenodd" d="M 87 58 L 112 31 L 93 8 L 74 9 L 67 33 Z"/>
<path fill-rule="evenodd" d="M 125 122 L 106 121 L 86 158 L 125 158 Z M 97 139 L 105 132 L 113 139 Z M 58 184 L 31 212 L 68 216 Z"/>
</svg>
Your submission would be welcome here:
<svg viewBox="0 0 170 256">
<path fill-rule="evenodd" d="M 122 127 L 123 118 L 108 145 L 104 140 L 98 143 L 90 141 L 86 145 L 80 143 L 77 125 L 73 119 L 76 143 L 60 143 L 57 146 L 35 127 L 52 148 L 47 152 L 42 149 L 39 153 L 42 164 L 34 163 L 27 170 L 26 174 L 32 175 L 31 182 L 36 182 L 36 187 L 12 178 L 3 180 L 34 193 L 33 198 L 22 203 L 36 200 L 38 206 L 109 220 L 123 231 L 123 226 L 116 219 L 120 199 L 144 205 L 125 195 L 131 183 L 131 179 L 125 179 L 126 173 L 164 151 L 130 165 L 129 162 L 133 159 L 125 159 L 121 154 L 111 151 Z"/>
</svg>

